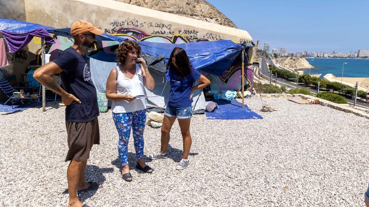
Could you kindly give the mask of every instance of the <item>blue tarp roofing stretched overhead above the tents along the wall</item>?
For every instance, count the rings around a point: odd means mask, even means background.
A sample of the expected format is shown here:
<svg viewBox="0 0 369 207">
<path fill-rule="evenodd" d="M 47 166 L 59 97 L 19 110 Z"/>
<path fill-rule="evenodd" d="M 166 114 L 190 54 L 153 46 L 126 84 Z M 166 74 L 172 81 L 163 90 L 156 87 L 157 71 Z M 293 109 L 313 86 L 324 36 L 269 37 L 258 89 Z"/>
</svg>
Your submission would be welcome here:
<svg viewBox="0 0 369 207">
<path fill-rule="evenodd" d="M 70 28 L 55 29 L 29 22 L 0 19 L 0 30 L 11 32 L 28 32 L 37 28 L 45 28 L 49 33 L 55 35 L 71 37 Z M 98 41 L 125 41 L 125 38 L 108 34 L 97 35 L 96 39 Z M 244 48 L 243 46 L 230 40 L 191 42 L 182 44 L 145 41 L 137 41 L 137 43 L 141 46 L 143 53 L 154 57 L 158 57 L 160 54 L 162 54 L 166 60 L 169 59 L 173 48 L 183 48 L 186 50 L 194 69 L 203 70 L 217 76 L 222 75 L 225 70 L 231 66 L 237 55 L 239 55 Z"/>
</svg>

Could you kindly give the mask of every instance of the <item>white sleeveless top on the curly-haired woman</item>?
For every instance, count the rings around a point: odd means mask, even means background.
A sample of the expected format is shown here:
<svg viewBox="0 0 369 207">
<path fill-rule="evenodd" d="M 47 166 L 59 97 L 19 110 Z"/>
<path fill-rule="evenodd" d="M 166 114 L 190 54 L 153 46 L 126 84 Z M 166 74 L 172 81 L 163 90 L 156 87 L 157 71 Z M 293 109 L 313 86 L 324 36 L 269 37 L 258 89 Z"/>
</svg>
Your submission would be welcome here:
<svg viewBox="0 0 369 207">
<path fill-rule="evenodd" d="M 144 78 L 142 77 L 142 71 L 138 64 L 136 64 L 136 73 L 132 79 L 125 77 L 119 66 L 116 68 L 118 69 L 117 89 L 115 90 L 116 94 L 129 94 L 133 97 L 137 95 L 146 95 Z M 128 113 L 144 110 L 146 109 L 146 100 L 137 98 L 131 102 L 125 100 L 113 101 L 111 109 L 114 113 Z"/>
</svg>

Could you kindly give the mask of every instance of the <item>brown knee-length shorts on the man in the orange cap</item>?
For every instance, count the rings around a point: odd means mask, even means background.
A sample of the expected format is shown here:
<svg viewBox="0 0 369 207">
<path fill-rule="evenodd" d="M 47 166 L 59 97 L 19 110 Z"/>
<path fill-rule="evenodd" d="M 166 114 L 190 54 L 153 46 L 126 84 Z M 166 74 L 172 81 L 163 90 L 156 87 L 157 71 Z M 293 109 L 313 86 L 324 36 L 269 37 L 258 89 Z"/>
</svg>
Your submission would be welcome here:
<svg viewBox="0 0 369 207">
<path fill-rule="evenodd" d="M 97 117 L 90 122 L 65 121 L 68 134 L 68 154 L 66 161 L 85 161 L 90 158 L 92 145 L 100 144 L 99 122 Z"/>
</svg>

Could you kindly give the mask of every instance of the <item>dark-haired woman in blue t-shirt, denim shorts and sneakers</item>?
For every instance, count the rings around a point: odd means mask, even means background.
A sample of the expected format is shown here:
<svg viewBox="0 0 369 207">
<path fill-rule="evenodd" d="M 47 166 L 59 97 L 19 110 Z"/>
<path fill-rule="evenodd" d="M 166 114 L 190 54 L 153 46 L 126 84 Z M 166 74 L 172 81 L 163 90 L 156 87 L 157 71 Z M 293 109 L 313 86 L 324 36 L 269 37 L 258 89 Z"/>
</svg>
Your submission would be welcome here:
<svg viewBox="0 0 369 207">
<path fill-rule="evenodd" d="M 197 70 L 193 69 L 186 51 L 182 48 L 176 47 L 173 49 L 166 68 L 170 77 L 170 92 L 161 129 L 161 149 L 158 154 L 151 155 L 149 158 L 168 158 L 166 150 L 169 144 L 169 133 L 177 118 L 183 138 L 183 158 L 176 169 L 182 170 L 189 164 L 187 158 L 192 144 L 190 135 L 192 91 L 206 87 L 210 84 L 210 81 Z M 196 81 L 199 84 L 193 86 Z"/>
</svg>

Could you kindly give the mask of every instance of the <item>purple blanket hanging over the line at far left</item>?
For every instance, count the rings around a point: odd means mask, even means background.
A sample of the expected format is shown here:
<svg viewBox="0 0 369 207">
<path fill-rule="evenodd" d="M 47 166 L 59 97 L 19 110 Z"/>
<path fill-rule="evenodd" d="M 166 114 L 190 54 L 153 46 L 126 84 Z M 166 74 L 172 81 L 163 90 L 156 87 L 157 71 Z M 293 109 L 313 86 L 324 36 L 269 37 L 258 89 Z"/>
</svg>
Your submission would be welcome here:
<svg viewBox="0 0 369 207">
<path fill-rule="evenodd" d="M 24 33 L 8 32 L 3 30 L 1 33 L 3 33 L 10 53 L 17 52 L 18 50 L 24 48 L 24 46 L 30 43 L 35 36 L 45 38 L 46 44 L 55 43 L 54 38 L 52 38 L 52 36 L 44 28 L 39 28 Z"/>
</svg>

